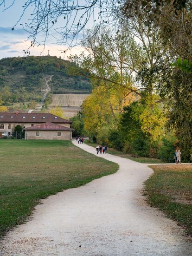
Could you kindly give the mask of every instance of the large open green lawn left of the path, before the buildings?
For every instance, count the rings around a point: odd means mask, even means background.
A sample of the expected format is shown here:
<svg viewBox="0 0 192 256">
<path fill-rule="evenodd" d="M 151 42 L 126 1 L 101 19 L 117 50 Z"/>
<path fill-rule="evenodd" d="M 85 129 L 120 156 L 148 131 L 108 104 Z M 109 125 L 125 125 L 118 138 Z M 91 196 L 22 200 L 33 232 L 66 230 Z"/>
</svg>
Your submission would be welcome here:
<svg viewBox="0 0 192 256">
<path fill-rule="evenodd" d="M 23 223 L 39 199 L 117 170 L 70 141 L 0 140 L 0 235 Z"/>
</svg>

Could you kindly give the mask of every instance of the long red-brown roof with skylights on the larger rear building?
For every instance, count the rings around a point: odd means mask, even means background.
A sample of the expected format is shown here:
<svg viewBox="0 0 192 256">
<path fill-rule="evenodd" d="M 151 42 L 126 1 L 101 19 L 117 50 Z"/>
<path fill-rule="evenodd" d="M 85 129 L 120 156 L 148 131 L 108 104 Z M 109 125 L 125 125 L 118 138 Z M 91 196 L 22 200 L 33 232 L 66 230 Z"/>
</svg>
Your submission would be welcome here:
<svg viewBox="0 0 192 256">
<path fill-rule="evenodd" d="M 0 112 L 0 123 L 67 123 L 71 121 L 50 113 L 8 113 Z"/>
</svg>

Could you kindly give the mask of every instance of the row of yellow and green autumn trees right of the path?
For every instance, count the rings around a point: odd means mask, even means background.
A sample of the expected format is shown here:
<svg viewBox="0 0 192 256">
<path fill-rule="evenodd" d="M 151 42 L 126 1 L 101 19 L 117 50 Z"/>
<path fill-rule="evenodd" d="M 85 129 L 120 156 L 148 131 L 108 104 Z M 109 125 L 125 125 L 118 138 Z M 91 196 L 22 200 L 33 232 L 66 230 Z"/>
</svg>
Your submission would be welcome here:
<svg viewBox="0 0 192 256">
<path fill-rule="evenodd" d="M 147 1 L 128 2 L 133 4 L 120 10 L 116 31 L 90 30 L 82 42 L 90 54 L 71 57 L 93 85 L 73 126 L 130 154 L 172 162 L 180 149 L 182 161 L 190 162 L 191 7 L 176 12 L 166 2 L 151 9 L 144 8 Z"/>
</svg>

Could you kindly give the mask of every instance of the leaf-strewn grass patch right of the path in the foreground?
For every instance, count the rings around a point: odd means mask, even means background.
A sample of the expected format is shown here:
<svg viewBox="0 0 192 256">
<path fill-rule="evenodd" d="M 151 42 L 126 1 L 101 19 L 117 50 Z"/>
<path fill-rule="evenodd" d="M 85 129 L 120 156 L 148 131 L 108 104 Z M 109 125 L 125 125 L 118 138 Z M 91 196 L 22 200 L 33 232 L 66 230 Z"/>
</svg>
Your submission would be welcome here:
<svg viewBox="0 0 192 256">
<path fill-rule="evenodd" d="M 192 165 L 152 165 L 144 195 L 192 236 Z"/>
</svg>

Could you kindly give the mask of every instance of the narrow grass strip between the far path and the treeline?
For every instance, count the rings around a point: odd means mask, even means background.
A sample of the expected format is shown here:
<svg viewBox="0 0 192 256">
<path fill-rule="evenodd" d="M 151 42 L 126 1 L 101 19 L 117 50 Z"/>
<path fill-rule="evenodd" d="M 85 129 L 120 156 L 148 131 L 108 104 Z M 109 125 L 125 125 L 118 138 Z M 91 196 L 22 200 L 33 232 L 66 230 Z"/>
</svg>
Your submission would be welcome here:
<svg viewBox="0 0 192 256">
<path fill-rule="evenodd" d="M 95 143 L 91 143 L 88 140 L 85 140 L 84 142 L 90 146 L 96 147 Z M 126 154 L 122 151 L 118 151 L 113 148 L 108 148 L 107 152 L 111 155 L 115 155 L 122 158 L 128 158 L 130 160 L 133 160 L 135 162 L 139 162 L 142 164 L 163 164 L 164 163 L 161 159 L 157 159 L 157 158 L 132 157 L 130 154 Z"/>
</svg>

